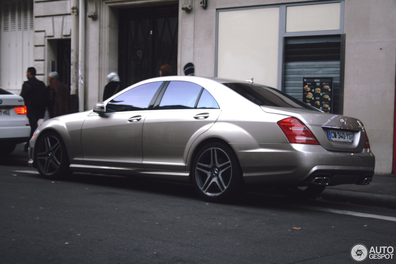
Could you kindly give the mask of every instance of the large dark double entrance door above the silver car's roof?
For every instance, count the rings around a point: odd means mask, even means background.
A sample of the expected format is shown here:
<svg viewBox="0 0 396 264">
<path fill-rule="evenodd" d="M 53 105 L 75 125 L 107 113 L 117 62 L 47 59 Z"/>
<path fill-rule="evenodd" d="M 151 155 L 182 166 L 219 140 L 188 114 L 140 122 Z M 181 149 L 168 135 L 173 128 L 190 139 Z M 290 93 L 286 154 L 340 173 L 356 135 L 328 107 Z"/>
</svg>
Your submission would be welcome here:
<svg viewBox="0 0 396 264">
<path fill-rule="evenodd" d="M 122 87 L 158 77 L 169 64 L 177 74 L 179 6 L 120 10 L 118 75 Z"/>
</svg>

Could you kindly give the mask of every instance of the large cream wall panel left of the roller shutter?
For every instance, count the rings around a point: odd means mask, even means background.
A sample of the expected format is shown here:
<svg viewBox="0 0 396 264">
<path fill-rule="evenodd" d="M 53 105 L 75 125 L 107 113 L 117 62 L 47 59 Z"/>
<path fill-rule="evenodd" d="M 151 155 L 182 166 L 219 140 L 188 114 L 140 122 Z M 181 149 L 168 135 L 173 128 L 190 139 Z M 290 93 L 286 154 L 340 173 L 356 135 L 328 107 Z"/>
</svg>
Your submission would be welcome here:
<svg viewBox="0 0 396 264">
<path fill-rule="evenodd" d="M 217 77 L 276 88 L 279 8 L 219 12 Z"/>
</svg>

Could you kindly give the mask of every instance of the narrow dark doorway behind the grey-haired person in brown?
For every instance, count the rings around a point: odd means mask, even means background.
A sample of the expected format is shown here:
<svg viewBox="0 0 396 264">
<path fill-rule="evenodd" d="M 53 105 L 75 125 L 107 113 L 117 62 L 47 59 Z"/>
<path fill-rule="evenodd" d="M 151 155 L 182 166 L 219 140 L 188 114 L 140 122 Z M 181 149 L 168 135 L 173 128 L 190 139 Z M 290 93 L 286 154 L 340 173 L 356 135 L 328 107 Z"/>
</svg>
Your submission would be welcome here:
<svg viewBox="0 0 396 264">
<path fill-rule="evenodd" d="M 58 40 L 57 69 L 59 81 L 70 87 L 70 40 Z"/>
</svg>

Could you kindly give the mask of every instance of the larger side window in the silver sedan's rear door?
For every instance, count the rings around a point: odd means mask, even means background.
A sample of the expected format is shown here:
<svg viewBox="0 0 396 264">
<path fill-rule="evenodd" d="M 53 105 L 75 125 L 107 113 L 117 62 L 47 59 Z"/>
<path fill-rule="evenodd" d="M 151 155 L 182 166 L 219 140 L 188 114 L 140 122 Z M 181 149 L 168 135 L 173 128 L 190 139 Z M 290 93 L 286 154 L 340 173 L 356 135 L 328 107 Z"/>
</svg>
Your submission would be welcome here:
<svg viewBox="0 0 396 264">
<path fill-rule="evenodd" d="M 157 109 L 193 109 L 201 89 L 193 82 L 171 81 Z"/>
</svg>

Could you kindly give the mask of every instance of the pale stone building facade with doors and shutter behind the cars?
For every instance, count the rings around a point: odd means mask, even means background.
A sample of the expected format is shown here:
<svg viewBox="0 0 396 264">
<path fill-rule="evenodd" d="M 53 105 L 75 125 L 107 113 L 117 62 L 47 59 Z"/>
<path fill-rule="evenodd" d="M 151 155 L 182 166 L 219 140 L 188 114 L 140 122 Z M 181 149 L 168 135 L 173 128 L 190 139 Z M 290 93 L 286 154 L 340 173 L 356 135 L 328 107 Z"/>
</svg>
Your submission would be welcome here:
<svg viewBox="0 0 396 264">
<path fill-rule="evenodd" d="M 394 172 L 394 0 L 0 2 L 0 86 L 17 94 L 27 67 L 44 81 L 58 71 L 82 111 L 101 101 L 112 71 L 127 87 L 158 77 L 164 63 L 183 75 L 192 62 L 197 76 L 254 78 L 360 119 L 375 172 Z M 303 88 L 310 81 L 326 96 L 311 98 Z"/>
</svg>

